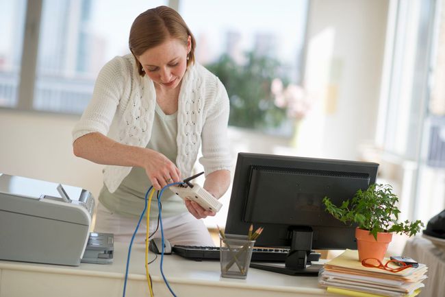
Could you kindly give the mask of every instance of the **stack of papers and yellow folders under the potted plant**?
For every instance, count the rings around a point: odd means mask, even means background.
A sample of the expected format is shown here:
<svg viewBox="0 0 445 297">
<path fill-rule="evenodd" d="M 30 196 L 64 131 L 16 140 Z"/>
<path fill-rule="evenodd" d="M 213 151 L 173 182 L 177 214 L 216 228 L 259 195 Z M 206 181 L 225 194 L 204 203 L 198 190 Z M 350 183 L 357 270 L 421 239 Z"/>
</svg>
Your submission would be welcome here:
<svg viewBox="0 0 445 297">
<path fill-rule="evenodd" d="M 390 259 L 383 259 L 383 265 Z M 394 263 L 388 265 L 397 268 Z M 368 268 L 361 264 L 357 250 L 346 250 L 327 262 L 320 270 L 318 283 L 328 292 L 346 296 L 394 296 L 411 297 L 420 293 L 427 278 L 426 265 L 406 268 L 398 272 L 380 268 Z"/>
</svg>

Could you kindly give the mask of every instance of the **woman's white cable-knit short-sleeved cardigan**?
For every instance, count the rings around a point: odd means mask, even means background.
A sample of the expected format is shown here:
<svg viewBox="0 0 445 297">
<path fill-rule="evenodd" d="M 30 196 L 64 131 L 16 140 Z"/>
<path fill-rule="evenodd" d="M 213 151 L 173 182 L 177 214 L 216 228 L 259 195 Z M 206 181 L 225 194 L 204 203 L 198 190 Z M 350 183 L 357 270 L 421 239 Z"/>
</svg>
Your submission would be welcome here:
<svg viewBox="0 0 445 297">
<path fill-rule="evenodd" d="M 156 93 L 153 81 L 141 77 L 132 55 L 118 56 L 101 69 L 92 99 L 73 129 L 73 142 L 90 132 L 100 132 L 126 145 L 146 147 L 151 138 Z M 192 172 L 202 143 L 199 162 L 205 175 L 231 169 L 227 123 L 229 97 L 220 80 L 200 64 L 183 76 L 178 102 L 178 155 L 183 178 Z M 131 167 L 108 165 L 103 181 L 116 191 Z"/>
</svg>

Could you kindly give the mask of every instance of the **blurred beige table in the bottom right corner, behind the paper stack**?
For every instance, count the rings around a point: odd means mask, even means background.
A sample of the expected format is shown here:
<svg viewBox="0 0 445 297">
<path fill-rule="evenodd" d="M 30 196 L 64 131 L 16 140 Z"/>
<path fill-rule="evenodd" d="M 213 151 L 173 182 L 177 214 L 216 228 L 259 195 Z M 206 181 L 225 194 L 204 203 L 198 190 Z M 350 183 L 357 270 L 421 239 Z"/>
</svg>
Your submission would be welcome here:
<svg viewBox="0 0 445 297">
<path fill-rule="evenodd" d="M 403 256 L 411 257 L 428 266 L 425 287 L 419 297 L 445 296 L 445 250 L 441 250 L 423 237 L 413 237 L 407 241 Z"/>
</svg>

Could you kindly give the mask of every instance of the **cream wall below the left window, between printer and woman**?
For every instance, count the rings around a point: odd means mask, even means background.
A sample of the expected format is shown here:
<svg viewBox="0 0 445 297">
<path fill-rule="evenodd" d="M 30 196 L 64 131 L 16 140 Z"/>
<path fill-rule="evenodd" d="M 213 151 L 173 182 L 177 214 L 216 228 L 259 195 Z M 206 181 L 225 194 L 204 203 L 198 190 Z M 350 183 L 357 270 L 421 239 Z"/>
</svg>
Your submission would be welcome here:
<svg viewBox="0 0 445 297">
<path fill-rule="evenodd" d="M 102 166 L 73 155 L 78 119 L 0 109 L 0 173 L 82 187 L 97 197 Z"/>
</svg>

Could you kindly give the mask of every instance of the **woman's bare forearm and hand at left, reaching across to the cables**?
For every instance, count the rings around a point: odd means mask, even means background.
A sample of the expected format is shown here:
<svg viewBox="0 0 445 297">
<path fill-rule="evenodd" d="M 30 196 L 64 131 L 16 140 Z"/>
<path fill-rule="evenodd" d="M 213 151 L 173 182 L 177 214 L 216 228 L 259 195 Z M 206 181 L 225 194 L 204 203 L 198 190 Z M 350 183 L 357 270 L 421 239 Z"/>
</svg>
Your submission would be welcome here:
<svg viewBox="0 0 445 297">
<path fill-rule="evenodd" d="M 105 165 L 142 167 L 157 190 L 166 186 L 169 178 L 181 180 L 181 172 L 166 156 L 144 147 L 123 145 L 99 133 L 79 137 L 73 143 L 75 156 Z"/>
</svg>

